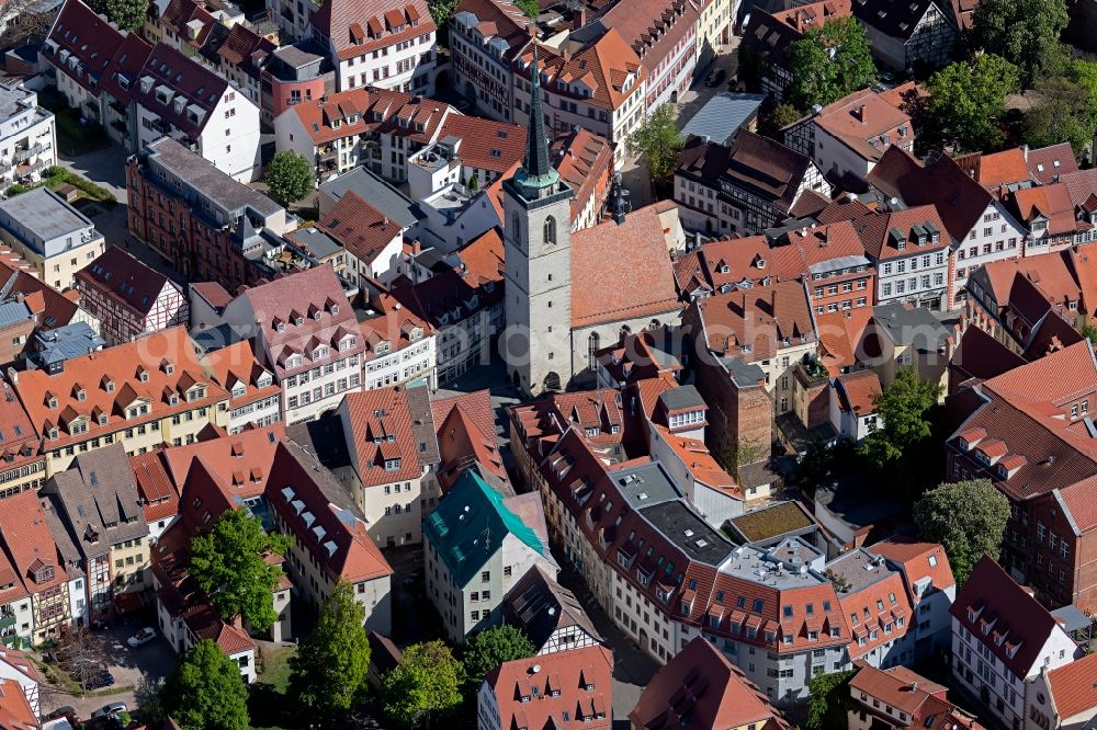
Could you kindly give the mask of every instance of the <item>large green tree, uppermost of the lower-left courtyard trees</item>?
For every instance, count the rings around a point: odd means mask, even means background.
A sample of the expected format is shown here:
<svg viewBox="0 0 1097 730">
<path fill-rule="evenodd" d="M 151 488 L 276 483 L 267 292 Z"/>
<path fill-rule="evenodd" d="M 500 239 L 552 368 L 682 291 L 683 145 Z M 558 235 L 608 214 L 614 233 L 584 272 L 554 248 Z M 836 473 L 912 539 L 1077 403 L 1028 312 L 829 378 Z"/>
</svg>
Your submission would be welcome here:
<svg viewBox="0 0 1097 730">
<path fill-rule="evenodd" d="M 265 631 L 278 620 L 271 591 L 282 575 L 264 556 L 284 555 L 293 539 L 268 535 L 262 522 L 246 509 L 229 510 L 213 529 L 191 538 L 191 575 L 225 620 L 242 616 L 251 628 Z"/>
</svg>

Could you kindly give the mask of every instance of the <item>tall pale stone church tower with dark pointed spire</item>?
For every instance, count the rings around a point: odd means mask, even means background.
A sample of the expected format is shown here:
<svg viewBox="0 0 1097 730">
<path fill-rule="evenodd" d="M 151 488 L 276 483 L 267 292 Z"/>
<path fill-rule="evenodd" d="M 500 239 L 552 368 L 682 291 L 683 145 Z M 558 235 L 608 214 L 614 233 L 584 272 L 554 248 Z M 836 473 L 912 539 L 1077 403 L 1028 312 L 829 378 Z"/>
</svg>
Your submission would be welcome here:
<svg viewBox="0 0 1097 730">
<path fill-rule="evenodd" d="M 548 159 L 541 71 L 533 43 L 525 158 L 504 181 L 507 329 L 501 346 L 523 392 L 561 390 L 572 379 L 572 198 Z"/>
</svg>

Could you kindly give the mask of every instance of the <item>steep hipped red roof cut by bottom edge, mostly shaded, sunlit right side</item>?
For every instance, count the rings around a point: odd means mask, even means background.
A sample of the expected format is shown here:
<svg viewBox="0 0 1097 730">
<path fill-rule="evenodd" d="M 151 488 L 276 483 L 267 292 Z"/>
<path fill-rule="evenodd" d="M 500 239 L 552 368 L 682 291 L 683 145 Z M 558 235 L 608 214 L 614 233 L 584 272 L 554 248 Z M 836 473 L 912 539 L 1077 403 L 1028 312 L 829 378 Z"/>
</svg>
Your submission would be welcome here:
<svg viewBox="0 0 1097 730">
<path fill-rule="evenodd" d="M 659 668 L 629 720 L 637 730 L 789 727 L 743 671 L 700 636 Z"/>
</svg>

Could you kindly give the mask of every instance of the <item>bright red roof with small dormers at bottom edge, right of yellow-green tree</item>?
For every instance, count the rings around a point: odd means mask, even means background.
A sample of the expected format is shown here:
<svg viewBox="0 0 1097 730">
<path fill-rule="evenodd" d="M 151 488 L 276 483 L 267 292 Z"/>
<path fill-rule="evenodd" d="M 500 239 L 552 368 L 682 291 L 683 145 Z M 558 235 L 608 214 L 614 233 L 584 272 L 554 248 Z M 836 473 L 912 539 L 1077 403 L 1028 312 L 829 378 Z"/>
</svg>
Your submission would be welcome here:
<svg viewBox="0 0 1097 730">
<path fill-rule="evenodd" d="M 484 682 L 505 729 L 613 726 L 613 653 L 601 646 L 504 662 Z M 588 688 L 589 687 L 589 688 Z M 565 720 L 565 712 L 572 719 Z"/>
</svg>

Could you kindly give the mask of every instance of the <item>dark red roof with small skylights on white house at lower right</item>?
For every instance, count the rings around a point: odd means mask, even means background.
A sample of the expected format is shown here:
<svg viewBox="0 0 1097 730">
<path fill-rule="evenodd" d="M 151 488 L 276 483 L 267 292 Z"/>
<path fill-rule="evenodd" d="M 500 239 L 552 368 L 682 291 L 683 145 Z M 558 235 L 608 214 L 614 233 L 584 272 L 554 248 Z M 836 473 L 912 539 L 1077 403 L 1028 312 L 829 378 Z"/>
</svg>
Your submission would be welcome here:
<svg viewBox="0 0 1097 730">
<path fill-rule="evenodd" d="M 1025 677 L 1058 627 L 1054 617 L 987 556 L 975 564 L 949 609 L 1013 674 Z M 988 626 L 991 634 L 984 635 Z M 995 636 L 1004 636 L 999 643 Z"/>
</svg>

